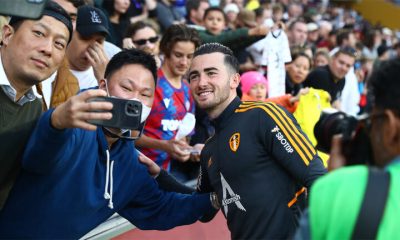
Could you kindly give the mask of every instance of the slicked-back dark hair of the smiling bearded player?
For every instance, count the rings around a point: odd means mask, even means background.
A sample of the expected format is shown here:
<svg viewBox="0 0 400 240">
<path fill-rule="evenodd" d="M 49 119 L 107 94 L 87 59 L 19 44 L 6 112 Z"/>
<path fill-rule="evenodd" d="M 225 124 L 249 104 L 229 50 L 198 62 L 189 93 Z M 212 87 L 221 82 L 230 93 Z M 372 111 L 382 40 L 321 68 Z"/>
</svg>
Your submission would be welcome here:
<svg viewBox="0 0 400 240">
<path fill-rule="evenodd" d="M 232 50 L 219 43 L 206 43 L 201 45 L 193 54 L 193 58 L 210 53 L 222 53 L 224 55 L 224 64 L 233 72 L 239 72 L 239 62 Z"/>
</svg>

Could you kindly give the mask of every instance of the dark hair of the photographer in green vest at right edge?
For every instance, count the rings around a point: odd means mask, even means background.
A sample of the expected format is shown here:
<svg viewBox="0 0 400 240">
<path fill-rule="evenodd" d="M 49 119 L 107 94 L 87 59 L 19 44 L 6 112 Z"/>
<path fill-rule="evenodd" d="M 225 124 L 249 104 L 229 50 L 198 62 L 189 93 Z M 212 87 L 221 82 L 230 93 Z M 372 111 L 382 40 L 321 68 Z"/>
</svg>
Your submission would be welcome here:
<svg viewBox="0 0 400 240">
<path fill-rule="evenodd" d="M 400 113 L 400 59 L 382 62 L 369 79 L 373 104 Z"/>
</svg>

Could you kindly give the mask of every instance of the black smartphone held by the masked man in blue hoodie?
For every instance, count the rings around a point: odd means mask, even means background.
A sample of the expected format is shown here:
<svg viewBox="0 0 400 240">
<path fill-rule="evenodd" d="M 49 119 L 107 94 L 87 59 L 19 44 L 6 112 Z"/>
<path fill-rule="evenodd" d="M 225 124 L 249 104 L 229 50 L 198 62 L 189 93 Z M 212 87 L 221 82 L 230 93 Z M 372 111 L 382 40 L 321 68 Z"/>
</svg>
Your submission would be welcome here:
<svg viewBox="0 0 400 240">
<path fill-rule="evenodd" d="M 88 122 L 111 128 L 139 129 L 142 116 L 142 103 L 136 100 L 127 100 L 112 97 L 95 97 L 90 102 L 111 102 L 113 117 L 109 120 L 90 120 Z"/>
</svg>

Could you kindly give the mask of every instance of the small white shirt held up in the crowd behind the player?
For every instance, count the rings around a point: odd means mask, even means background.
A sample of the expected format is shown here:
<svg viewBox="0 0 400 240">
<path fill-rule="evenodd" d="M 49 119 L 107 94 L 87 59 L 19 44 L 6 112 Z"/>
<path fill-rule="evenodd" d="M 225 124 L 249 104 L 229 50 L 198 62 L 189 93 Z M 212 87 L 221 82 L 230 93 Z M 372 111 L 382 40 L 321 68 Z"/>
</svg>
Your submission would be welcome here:
<svg viewBox="0 0 400 240">
<path fill-rule="evenodd" d="M 281 30 L 270 31 L 265 38 L 261 64 L 268 66 L 268 97 L 285 95 L 285 63 L 291 62 L 289 41 Z"/>
</svg>

